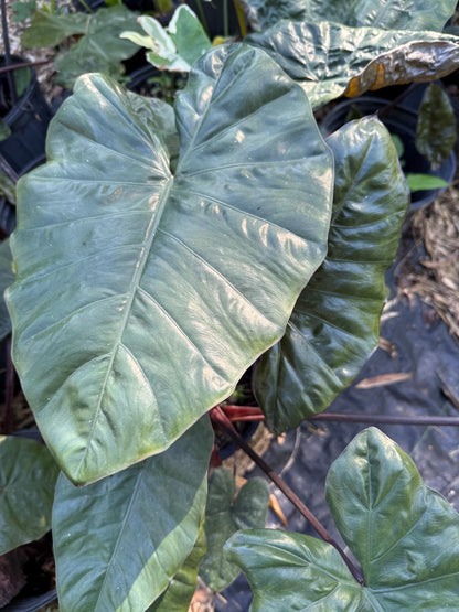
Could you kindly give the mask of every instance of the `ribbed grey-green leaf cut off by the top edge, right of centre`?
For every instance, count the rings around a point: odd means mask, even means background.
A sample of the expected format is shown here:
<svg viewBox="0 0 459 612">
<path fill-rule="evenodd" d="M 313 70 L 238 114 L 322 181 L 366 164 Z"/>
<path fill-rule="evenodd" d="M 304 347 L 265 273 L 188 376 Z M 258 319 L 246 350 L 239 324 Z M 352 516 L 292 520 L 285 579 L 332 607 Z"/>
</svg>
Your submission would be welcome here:
<svg viewBox="0 0 459 612">
<path fill-rule="evenodd" d="M 334 21 L 352 28 L 431 30 L 440 32 L 455 13 L 456 0 L 242 0 L 256 30 L 281 19 Z"/>
</svg>

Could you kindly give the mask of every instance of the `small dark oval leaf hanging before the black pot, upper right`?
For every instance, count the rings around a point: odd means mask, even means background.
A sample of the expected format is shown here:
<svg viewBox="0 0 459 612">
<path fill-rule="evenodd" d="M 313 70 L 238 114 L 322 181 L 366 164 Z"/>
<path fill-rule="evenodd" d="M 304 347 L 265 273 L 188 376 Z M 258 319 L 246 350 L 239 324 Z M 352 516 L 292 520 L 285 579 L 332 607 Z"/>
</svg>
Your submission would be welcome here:
<svg viewBox="0 0 459 612">
<path fill-rule="evenodd" d="M 455 111 L 448 94 L 438 85 L 427 87 L 419 107 L 416 149 L 439 168 L 450 155 L 457 139 Z"/>
</svg>

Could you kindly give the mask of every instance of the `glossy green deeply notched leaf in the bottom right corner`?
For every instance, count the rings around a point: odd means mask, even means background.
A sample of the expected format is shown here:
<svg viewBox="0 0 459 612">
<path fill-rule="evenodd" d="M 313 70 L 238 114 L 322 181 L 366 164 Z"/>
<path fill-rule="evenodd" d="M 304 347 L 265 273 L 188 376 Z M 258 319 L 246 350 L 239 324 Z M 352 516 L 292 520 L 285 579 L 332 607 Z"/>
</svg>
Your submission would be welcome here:
<svg viewBox="0 0 459 612">
<path fill-rule="evenodd" d="M 330 545 L 301 534 L 239 532 L 230 560 L 247 575 L 253 612 L 457 609 L 459 515 L 423 484 L 412 459 L 377 429 L 360 433 L 327 482 L 333 518 L 365 587 Z"/>
</svg>

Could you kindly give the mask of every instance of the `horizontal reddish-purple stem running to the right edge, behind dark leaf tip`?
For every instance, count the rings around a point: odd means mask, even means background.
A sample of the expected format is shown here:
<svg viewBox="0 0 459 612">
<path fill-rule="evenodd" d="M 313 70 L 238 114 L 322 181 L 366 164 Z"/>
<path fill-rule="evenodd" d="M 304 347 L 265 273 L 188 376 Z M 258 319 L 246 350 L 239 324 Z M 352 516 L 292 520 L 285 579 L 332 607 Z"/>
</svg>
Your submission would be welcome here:
<svg viewBox="0 0 459 612">
<path fill-rule="evenodd" d="M 265 416 L 260 408 L 254 406 L 223 406 L 230 420 L 234 421 L 261 421 Z M 322 412 L 305 419 L 307 421 L 329 422 L 362 422 L 369 425 L 418 425 L 418 426 L 451 426 L 459 427 L 459 417 L 402 417 L 392 415 L 360 415 L 355 412 Z"/>
</svg>

